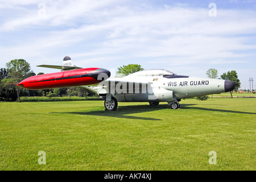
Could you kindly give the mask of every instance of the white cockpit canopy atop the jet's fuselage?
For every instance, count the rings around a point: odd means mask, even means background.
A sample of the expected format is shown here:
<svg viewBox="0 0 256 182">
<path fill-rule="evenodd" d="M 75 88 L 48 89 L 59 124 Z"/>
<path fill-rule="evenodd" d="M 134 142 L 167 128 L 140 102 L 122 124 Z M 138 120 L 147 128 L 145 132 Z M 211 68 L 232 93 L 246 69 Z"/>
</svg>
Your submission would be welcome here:
<svg viewBox="0 0 256 182">
<path fill-rule="evenodd" d="M 135 72 L 128 76 L 175 76 L 175 73 L 172 73 L 166 69 L 147 69 L 139 72 Z"/>
</svg>

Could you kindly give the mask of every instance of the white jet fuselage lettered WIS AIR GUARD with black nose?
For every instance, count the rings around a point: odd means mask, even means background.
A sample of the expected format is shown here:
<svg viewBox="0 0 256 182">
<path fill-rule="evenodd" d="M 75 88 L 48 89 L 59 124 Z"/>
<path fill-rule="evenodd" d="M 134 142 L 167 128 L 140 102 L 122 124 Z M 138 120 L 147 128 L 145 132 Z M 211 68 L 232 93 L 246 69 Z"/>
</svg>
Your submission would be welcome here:
<svg viewBox="0 0 256 182">
<path fill-rule="evenodd" d="M 177 75 L 123 77 L 109 78 L 101 82 L 98 93 L 111 93 L 118 102 L 171 103 L 182 98 L 229 92 L 234 86 L 228 80 Z"/>
</svg>

